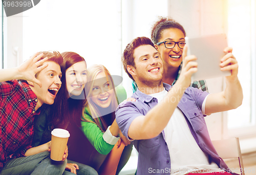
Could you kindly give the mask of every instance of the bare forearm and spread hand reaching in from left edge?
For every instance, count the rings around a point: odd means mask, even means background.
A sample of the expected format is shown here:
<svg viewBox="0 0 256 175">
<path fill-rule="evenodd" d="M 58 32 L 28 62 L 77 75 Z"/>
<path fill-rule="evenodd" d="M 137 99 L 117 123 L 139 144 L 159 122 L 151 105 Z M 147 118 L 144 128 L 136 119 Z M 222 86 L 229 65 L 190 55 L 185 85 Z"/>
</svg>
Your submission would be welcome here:
<svg viewBox="0 0 256 175">
<path fill-rule="evenodd" d="M 0 70 L 0 82 L 9 81 L 12 79 L 23 79 L 32 81 L 41 86 L 41 82 L 35 78 L 35 74 L 48 66 L 48 64 L 41 65 L 47 61 L 48 58 L 44 58 L 38 61 L 43 55 L 44 54 L 40 54 L 37 56 L 37 53 L 35 53 L 24 63 L 20 64 L 17 68 Z"/>
</svg>

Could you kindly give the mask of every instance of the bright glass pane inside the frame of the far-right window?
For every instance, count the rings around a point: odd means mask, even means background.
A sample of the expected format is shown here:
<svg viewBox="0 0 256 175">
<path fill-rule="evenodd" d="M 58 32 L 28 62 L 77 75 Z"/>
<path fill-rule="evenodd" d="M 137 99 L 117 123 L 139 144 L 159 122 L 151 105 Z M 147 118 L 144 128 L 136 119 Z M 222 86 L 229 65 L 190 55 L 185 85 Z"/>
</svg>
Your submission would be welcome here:
<svg viewBox="0 0 256 175">
<path fill-rule="evenodd" d="M 251 7 L 250 0 L 228 1 L 228 43 L 239 63 L 243 104 L 228 111 L 228 128 L 251 124 Z"/>
</svg>

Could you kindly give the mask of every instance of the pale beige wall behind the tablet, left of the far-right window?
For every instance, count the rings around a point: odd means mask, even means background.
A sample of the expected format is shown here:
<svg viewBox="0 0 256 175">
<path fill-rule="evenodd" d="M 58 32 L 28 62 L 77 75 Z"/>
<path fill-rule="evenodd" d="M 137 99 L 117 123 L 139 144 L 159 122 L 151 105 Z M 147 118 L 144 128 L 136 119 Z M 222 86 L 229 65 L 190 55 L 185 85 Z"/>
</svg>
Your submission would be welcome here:
<svg viewBox="0 0 256 175">
<path fill-rule="evenodd" d="M 225 3 L 222 0 L 168 0 L 168 16 L 178 21 L 190 37 L 225 33 Z M 223 89 L 223 78 L 206 82 L 210 93 Z M 205 120 L 211 139 L 222 139 L 223 113 L 211 114 Z"/>
</svg>

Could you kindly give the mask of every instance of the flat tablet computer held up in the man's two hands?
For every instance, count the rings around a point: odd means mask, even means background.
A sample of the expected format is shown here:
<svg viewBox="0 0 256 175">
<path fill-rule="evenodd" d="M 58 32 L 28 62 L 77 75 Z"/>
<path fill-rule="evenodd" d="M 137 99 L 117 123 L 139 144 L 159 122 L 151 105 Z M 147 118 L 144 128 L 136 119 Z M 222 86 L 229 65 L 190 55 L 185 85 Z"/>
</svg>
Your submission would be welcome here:
<svg viewBox="0 0 256 175">
<path fill-rule="evenodd" d="M 221 58 L 226 54 L 225 34 L 205 35 L 200 37 L 185 37 L 187 55 L 195 55 L 198 71 L 191 76 L 191 81 L 204 80 L 231 75 L 230 71 L 221 71 Z"/>
</svg>

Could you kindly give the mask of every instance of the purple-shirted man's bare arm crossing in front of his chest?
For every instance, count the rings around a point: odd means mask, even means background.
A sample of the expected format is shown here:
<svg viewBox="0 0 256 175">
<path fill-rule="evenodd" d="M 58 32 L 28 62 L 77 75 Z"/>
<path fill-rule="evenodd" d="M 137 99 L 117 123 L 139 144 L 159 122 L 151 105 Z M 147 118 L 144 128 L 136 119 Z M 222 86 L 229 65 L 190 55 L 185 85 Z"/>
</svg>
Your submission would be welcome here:
<svg viewBox="0 0 256 175">
<path fill-rule="evenodd" d="M 167 125 L 170 117 L 175 111 L 184 91 L 191 82 L 191 75 L 197 72 L 198 63 L 194 55 L 186 56 L 187 47 L 184 47 L 183 68 L 179 79 L 170 89 L 165 98 L 152 108 L 145 116 L 136 117 L 128 130 L 128 136 L 131 139 L 151 139 L 158 136 Z M 175 99 L 175 100 L 174 100 Z"/>
</svg>

